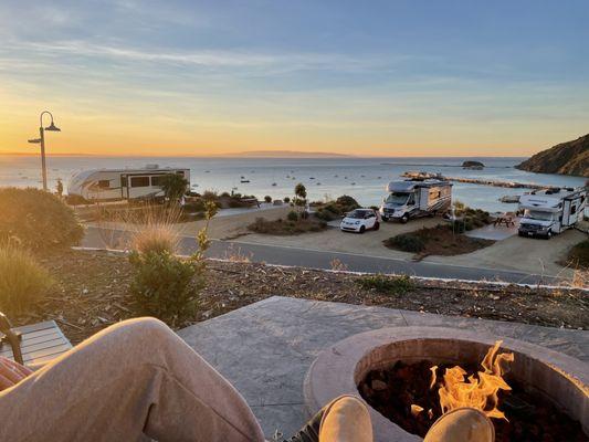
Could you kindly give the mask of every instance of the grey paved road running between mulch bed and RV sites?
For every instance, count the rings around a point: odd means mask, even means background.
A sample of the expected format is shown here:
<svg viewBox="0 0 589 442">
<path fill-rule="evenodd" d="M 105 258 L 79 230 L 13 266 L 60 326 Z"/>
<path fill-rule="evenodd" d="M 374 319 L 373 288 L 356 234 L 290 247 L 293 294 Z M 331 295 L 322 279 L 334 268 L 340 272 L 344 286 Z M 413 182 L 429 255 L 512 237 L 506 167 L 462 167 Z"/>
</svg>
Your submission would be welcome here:
<svg viewBox="0 0 589 442">
<path fill-rule="evenodd" d="M 124 231 L 105 231 L 88 228 L 83 245 L 88 248 L 104 248 L 105 239 L 111 244 L 125 243 L 128 235 Z M 180 253 L 190 254 L 197 250 L 193 238 L 182 238 Z M 248 256 L 252 262 L 269 264 L 294 265 L 312 269 L 332 269 L 332 262 L 337 259 L 353 272 L 396 273 L 424 277 L 443 277 L 471 281 L 504 281 L 523 284 L 555 284 L 557 280 L 520 272 L 497 271 L 491 269 L 465 267 L 428 262 L 412 262 L 380 256 L 366 256 L 354 253 L 322 252 L 290 246 L 248 243 L 246 241 L 213 240 L 207 252 L 209 257 L 227 259 L 232 254 Z"/>
</svg>

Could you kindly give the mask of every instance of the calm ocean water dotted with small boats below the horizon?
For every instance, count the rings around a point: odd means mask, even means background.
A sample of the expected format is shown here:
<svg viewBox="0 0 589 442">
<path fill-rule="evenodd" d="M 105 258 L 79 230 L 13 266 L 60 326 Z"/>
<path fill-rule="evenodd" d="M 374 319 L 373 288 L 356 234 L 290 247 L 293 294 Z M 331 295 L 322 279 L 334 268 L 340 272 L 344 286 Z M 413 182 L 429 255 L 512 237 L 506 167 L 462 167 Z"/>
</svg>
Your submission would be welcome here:
<svg viewBox="0 0 589 442">
<path fill-rule="evenodd" d="M 464 170 L 464 160 L 480 160 L 484 170 Z M 294 186 L 302 182 L 312 200 L 350 194 L 361 204 L 379 204 L 385 187 L 407 170 L 442 172 L 448 177 L 481 178 L 536 185 L 578 187 L 585 178 L 532 173 L 514 168 L 524 158 L 179 158 L 179 157 L 49 157 L 49 186 L 57 178 L 66 187 L 73 172 L 84 169 L 143 167 L 190 168 L 194 191 L 231 191 L 263 198 L 292 197 Z M 41 187 L 38 157 L 0 156 L 0 187 Z M 241 183 L 241 177 L 250 180 Z M 275 183 L 275 186 L 273 186 Z M 514 210 L 515 204 L 498 201 L 505 194 L 520 194 L 525 189 L 507 189 L 470 183 L 454 183 L 454 199 L 488 211 Z"/>
</svg>

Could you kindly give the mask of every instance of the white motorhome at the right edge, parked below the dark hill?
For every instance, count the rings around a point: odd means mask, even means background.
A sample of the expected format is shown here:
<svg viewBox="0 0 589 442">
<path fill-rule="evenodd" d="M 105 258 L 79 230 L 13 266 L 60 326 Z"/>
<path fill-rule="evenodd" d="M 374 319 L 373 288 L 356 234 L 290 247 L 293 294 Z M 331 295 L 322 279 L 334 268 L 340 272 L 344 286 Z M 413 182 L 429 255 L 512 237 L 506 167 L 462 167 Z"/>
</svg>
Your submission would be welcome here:
<svg viewBox="0 0 589 442">
<path fill-rule="evenodd" d="M 523 194 L 519 198 L 519 210 L 524 213 L 519 235 L 549 239 L 574 227 L 583 218 L 586 200 L 585 189 L 546 189 Z"/>
</svg>

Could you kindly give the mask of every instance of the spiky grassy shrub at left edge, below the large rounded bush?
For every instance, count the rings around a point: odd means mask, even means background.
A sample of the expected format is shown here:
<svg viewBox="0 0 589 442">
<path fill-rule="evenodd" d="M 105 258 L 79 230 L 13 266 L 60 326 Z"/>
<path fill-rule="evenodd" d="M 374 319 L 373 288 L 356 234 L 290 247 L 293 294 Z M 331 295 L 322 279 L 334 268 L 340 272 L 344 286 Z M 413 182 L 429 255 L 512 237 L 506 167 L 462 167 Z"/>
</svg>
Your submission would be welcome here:
<svg viewBox="0 0 589 442">
<path fill-rule="evenodd" d="M 29 252 L 11 245 L 0 248 L 0 309 L 24 312 L 52 285 L 49 272 Z"/>
</svg>

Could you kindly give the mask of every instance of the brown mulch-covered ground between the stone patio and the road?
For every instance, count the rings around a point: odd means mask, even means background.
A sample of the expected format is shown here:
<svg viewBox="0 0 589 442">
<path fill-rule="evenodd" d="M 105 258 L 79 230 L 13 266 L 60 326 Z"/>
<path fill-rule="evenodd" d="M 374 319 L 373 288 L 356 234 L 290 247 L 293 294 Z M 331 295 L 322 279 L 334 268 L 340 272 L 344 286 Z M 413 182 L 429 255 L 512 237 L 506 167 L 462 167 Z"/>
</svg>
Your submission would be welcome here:
<svg viewBox="0 0 589 442">
<path fill-rule="evenodd" d="M 127 294 L 133 271 L 127 257 L 107 252 L 65 251 L 39 256 L 57 284 L 17 325 L 54 319 L 76 344 L 120 319 L 137 316 Z M 543 326 L 589 329 L 589 296 L 582 291 L 416 281 L 396 295 L 365 290 L 361 276 L 284 269 L 248 262 L 210 261 L 198 313 L 170 324 L 181 328 L 273 295 L 480 317 Z"/>
</svg>

